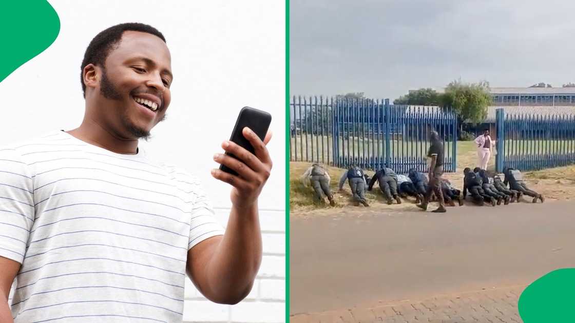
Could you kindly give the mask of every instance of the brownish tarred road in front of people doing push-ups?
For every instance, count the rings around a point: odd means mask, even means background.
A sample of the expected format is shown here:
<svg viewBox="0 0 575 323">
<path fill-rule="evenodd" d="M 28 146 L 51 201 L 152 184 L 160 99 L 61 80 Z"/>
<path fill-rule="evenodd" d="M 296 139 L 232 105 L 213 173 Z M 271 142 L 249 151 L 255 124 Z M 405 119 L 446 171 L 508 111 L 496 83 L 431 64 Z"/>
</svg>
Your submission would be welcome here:
<svg viewBox="0 0 575 323">
<path fill-rule="evenodd" d="M 519 295 L 528 283 L 551 270 L 574 265 L 573 202 L 464 206 L 449 211 L 385 214 L 358 208 L 347 216 L 292 217 L 290 313 L 300 314 L 292 317 L 294 321 L 311 322 L 310 317 L 341 310 L 355 310 L 361 317 L 405 299 L 405 304 L 432 299 L 448 304 L 457 302 L 457 297 L 466 299 L 463 295 L 469 293 L 480 294 L 471 298 L 474 301 L 467 299 L 466 310 L 484 306 L 496 311 L 498 307 L 489 307 L 486 300 L 504 293 L 501 312 L 507 313 L 505 320 L 514 322 L 519 318 L 516 307 L 508 307 L 516 306 L 510 295 Z M 508 294 L 509 290 L 513 293 Z M 445 315 L 457 312 L 457 306 L 442 306 L 437 308 Z M 377 317 L 395 320 L 381 313 Z M 442 322 L 447 317 L 428 318 L 424 321 Z M 445 322 L 457 321 L 457 316 L 452 318 Z"/>
</svg>

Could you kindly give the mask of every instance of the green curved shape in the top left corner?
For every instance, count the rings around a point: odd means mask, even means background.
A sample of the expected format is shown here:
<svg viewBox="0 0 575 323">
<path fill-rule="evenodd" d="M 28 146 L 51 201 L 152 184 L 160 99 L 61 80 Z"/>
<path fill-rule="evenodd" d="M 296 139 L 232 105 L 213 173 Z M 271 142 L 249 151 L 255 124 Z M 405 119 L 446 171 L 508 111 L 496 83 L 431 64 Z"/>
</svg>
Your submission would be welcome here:
<svg viewBox="0 0 575 323">
<path fill-rule="evenodd" d="M 60 18 L 46 0 L 0 3 L 0 82 L 48 48 L 60 32 Z"/>
</svg>

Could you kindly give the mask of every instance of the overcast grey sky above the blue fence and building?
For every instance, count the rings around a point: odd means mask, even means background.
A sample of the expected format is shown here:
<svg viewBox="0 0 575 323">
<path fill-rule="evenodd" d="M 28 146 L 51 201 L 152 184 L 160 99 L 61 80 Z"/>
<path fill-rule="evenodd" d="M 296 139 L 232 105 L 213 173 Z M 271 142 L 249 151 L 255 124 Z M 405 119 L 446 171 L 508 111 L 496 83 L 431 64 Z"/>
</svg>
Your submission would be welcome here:
<svg viewBox="0 0 575 323">
<path fill-rule="evenodd" d="M 290 1 L 290 94 L 575 82 L 575 1 Z"/>
</svg>

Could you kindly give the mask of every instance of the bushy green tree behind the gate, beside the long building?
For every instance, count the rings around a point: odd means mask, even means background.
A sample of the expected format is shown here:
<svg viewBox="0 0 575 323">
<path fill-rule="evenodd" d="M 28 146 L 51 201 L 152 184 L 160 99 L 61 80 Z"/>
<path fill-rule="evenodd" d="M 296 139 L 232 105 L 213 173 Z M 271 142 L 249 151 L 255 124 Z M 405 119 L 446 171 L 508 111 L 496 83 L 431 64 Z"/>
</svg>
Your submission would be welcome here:
<svg viewBox="0 0 575 323">
<path fill-rule="evenodd" d="M 463 122 L 480 123 L 487 117 L 487 107 L 492 102 L 489 93 L 489 83 L 462 83 L 454 80 L 447 84 L 445 93 L 441 96 L 441 106 L 451 107 L 457 113 L 459 131 L 463 129 Z"/>
</svg>

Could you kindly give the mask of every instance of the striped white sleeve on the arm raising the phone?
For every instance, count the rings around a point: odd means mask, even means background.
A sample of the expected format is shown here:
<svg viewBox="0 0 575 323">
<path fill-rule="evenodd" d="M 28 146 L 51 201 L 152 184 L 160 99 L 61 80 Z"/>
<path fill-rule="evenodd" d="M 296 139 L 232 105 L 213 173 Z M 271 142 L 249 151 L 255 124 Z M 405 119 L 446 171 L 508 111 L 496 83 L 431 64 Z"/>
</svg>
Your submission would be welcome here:
<svg viewBox="0 0 575 323">
<path fill-rule="evenodd" d="M 188 250 L 201 241 L 224 234 L 223 226 L 216 220 L 212 202 L 198 180 L 194 180 L 190 194 L 193 195 L 194 202 L 191 205 Z"/>
</svg>

